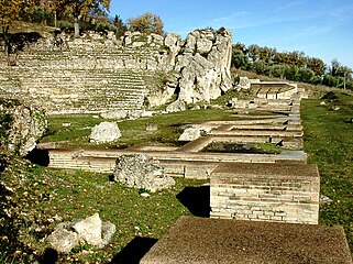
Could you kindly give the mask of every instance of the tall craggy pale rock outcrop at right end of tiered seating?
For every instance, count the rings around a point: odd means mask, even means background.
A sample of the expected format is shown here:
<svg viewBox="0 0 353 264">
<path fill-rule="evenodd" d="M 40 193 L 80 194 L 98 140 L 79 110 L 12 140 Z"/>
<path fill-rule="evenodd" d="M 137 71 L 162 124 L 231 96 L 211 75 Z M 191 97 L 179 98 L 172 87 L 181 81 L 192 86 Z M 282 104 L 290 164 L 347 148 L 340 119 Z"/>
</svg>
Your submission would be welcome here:
<svg viewBox="0 0 353 264">
<path fill-rule="evenodd" d="M 196 30 L 188 34 L 184 54 L 178 55 L 180 73 L 178 98 L 188 102 L 209 102 L 232 88 L 230 73 L 232 36 L 220 29 Z"/>
</svg>

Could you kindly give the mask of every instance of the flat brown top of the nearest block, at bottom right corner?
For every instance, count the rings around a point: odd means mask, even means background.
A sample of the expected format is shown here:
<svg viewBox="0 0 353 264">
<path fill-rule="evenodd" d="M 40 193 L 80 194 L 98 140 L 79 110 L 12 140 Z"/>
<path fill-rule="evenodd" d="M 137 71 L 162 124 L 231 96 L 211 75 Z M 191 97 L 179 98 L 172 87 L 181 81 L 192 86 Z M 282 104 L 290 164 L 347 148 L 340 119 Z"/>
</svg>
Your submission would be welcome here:
<svg viewBox="0 0 353 264">
<path fill-rule="evenodd" d="M 181 217 L 141 264 L 352 264 L 341 227 Z"/>
</svg>

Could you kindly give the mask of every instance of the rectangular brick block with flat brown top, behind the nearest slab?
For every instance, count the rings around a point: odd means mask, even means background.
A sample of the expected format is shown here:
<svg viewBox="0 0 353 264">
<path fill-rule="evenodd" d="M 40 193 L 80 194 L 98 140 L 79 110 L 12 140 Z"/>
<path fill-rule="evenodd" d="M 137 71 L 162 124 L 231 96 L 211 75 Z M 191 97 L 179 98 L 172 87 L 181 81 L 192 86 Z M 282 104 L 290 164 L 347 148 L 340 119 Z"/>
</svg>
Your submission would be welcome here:
<svg viewBox="0 0 353 264">
<path fill-rule="evenodd" d="M 223 163 L 210 182 L 212 218 L 318 223 L 317 165 Z"/>
</svg>

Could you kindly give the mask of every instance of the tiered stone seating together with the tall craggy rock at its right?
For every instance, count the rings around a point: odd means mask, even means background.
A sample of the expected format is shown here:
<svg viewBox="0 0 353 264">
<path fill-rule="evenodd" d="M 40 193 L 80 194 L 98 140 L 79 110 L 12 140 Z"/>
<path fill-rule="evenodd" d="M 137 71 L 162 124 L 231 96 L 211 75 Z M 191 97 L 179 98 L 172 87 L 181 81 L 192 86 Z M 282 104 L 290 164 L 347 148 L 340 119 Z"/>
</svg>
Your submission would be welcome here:
<svg viewBox="0 0 353 264">
<path fill-rule="evenodd" d="M 232 87 L 231 43 L 224 29 L 196 30 L 186 41 L 175 33 L 53 33 L 26 45 L 16 66 L 1 56 L 0 96 L 31 99 L 54 114 L 208 102 Z"/>
</svg>

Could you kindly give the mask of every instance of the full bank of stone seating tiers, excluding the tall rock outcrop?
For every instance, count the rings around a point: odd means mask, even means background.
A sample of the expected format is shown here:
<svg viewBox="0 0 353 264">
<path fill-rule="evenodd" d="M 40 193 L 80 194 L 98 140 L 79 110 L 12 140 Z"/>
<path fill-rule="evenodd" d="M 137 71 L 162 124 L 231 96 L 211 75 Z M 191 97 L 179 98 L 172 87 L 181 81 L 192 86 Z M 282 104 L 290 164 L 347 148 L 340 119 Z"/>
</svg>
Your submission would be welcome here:
<svg viewBox="0 0 353 264">
<path fill-rule="evenodd" d="M 34 47 L 20 53 L 13 67 L 1 56 L 0 96 L 29 100 L 49 114 L 142 109 L 150 92 L 144 79 L 155 73 L 158 50 L 86 44 L 74 41 L 69 51 Z"/>
</svg>

